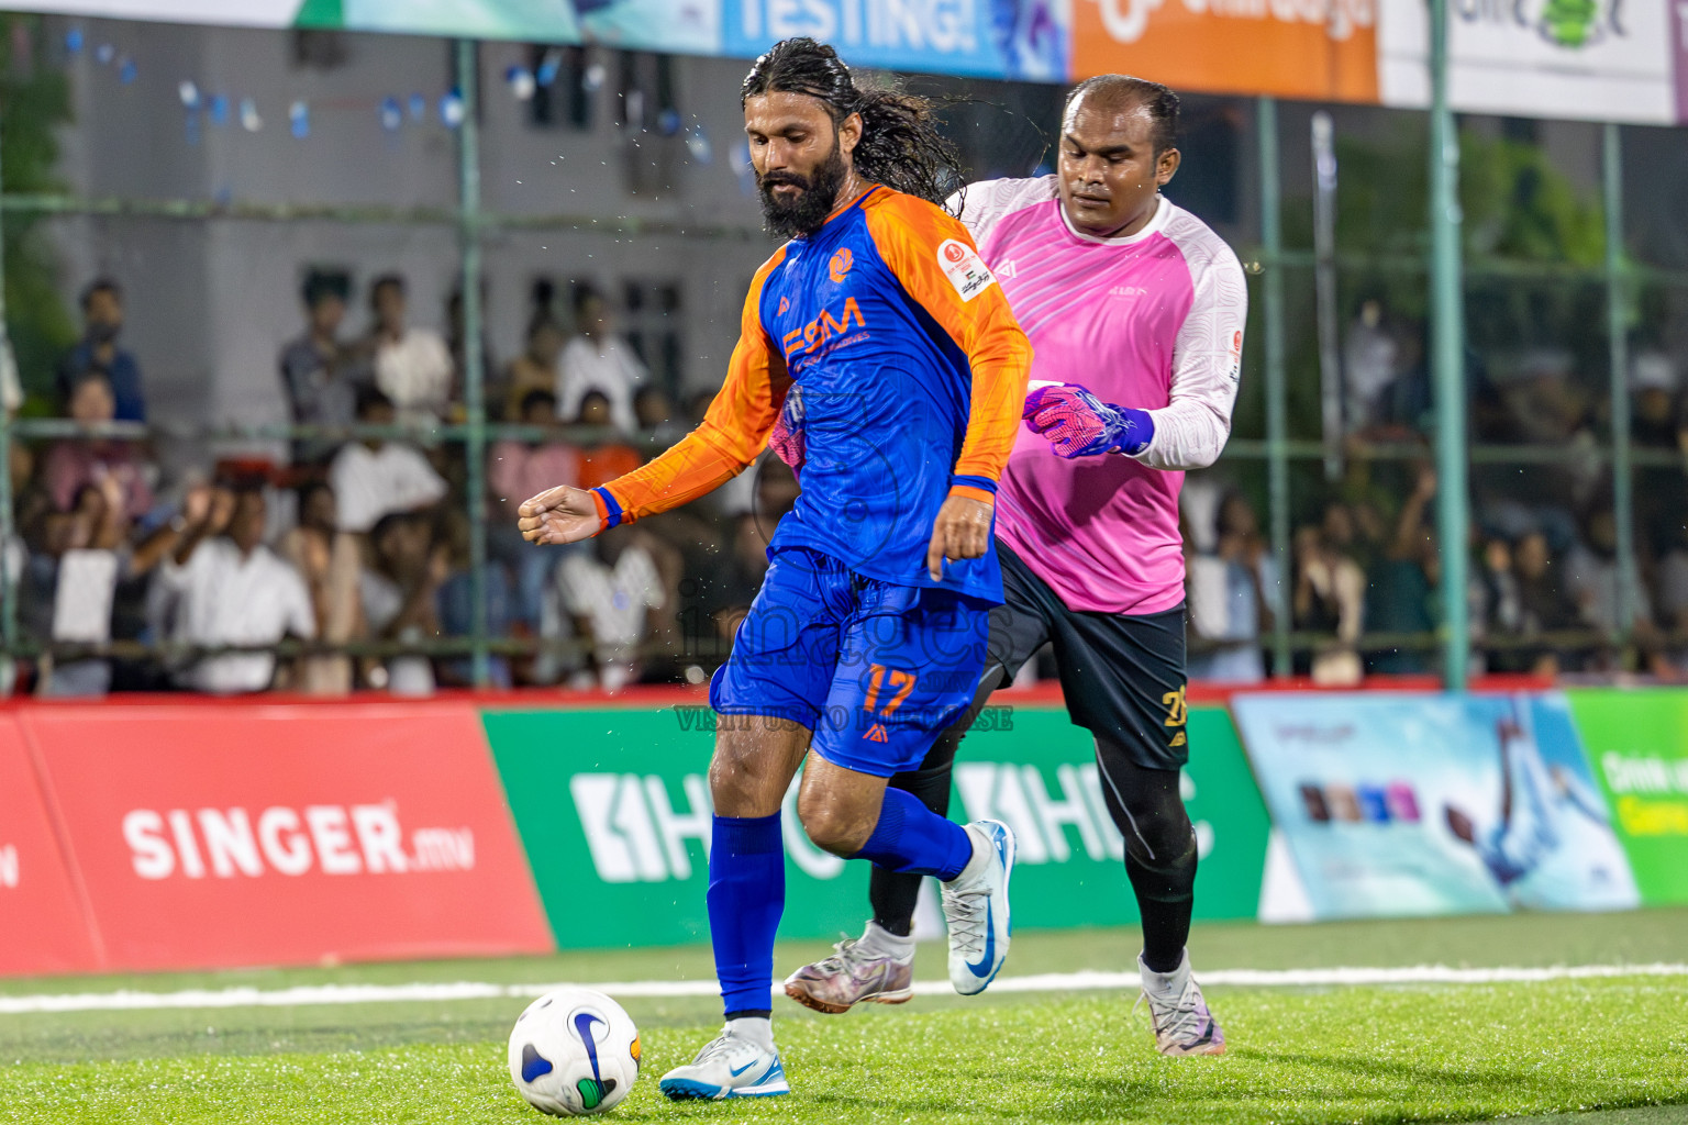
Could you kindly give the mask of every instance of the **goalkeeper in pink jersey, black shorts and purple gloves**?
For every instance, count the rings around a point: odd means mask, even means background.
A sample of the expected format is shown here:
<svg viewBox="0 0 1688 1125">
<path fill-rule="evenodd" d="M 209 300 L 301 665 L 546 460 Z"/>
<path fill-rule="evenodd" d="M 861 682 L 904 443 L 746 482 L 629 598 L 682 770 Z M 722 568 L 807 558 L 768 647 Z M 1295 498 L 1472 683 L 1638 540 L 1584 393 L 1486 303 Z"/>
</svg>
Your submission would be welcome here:
<svg viewBox="0 0 1688 1125">
<path fill-rule="evenodd" d="M 1052 643 L 1126 840 L 1156 1044 L 1220 1054 L 1185 953 L 1197 848 L 1178 794 L 1188 761 L 1178 487 L 1231 433 L 1247 292 L 1231 248 L 1160 196 L 1178 170 L 1177 126 L 1165 86 L 1092 78 L 1067 98 L 1055 175 L 966 191 L 962 223 L 1031 339 L 1031 393 L 996 494 L 1004 604 L 991 612 L 972 708 L 891 786 L 947 813 L 967 727 Z M 787 995 L 822 1012 L 906 1000 L 918 889 L 918 875 L 876 867 L 866 933 L 795 972 Z"/>
</svg>

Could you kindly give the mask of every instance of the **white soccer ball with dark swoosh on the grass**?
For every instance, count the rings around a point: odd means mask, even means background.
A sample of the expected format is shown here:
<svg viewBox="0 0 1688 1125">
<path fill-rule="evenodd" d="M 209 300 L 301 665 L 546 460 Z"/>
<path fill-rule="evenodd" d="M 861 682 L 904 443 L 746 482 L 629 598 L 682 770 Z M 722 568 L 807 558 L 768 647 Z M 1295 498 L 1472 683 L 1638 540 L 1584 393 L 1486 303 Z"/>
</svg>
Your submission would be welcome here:
<svg viewBox="0 0 1688 1125">
<path fill-rule="evenodd" d="M 638 1078 L 638 1027 L 591 988 L 554 988 L 510 1032 L 510 1081 L 552 1117 L 613 1110 Z"/>
</svg>

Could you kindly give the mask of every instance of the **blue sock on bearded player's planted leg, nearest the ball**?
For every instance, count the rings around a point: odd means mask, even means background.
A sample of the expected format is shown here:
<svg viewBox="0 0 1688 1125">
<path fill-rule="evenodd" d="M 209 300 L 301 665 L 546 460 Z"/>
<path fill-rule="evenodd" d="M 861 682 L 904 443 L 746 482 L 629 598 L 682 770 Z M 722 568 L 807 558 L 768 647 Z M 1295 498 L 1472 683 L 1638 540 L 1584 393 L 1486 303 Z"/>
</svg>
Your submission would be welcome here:
<svg viewBox="0 0 1688 1125">
<path fill-rule="evenodd" d="M 709 847 L 709 939 L 729 1015 L 766 1015 L 773 934 L 785 909 L 780 815 L 716 816 Z"/>
</svg>

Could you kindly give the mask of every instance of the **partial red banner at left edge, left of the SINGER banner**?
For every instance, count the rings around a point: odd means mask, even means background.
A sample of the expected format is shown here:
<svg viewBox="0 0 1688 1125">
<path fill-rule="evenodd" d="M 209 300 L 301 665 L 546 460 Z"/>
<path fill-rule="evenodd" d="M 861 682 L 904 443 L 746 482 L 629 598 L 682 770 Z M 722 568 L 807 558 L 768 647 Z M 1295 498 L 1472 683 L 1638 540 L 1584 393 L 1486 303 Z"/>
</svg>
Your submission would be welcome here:
<svg viewBox="0 0 1688 1125">
<path fill-rule="evenodd" d="M 0 975 L 100 966 L 24 734 L 0 715 Z"/>
</svg>

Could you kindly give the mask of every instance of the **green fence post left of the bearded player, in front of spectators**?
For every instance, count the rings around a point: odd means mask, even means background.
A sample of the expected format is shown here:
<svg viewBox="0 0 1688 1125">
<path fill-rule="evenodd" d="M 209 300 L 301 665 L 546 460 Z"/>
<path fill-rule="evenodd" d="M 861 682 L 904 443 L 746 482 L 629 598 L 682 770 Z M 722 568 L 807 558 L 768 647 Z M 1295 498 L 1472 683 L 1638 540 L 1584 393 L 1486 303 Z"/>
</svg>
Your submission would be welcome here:
<svg viewBox="0 0 1688 1125">
<path fill-rule="evenodd" d="M 479 69 L 473 39 L 456 42 L 457 96 L 457 206 L 463 250 L 463 405 L 469 435 L 464 442 L 469 504 L 469 621 L 474 643 L 474 686 L 491 678 L 486 629 L 486 371 L 481 354 L 481 121 Z"/>
</svg>

